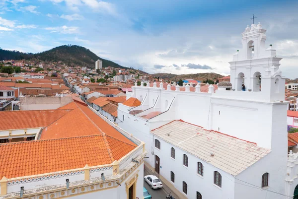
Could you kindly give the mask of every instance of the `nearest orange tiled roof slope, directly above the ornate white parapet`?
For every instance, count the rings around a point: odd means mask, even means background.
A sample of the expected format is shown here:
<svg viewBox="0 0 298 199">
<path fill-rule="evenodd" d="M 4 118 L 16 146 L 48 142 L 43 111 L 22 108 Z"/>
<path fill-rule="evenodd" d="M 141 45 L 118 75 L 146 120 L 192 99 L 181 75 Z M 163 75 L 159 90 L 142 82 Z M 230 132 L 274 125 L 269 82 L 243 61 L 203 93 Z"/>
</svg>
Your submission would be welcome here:
<svg viewBox="0 0 298 199">
<path fill-rule="evenodd" d="M 0 178 L 110 164 L 135 147 L 105 134 L 4 143 L 0 144 Z"/>
</svg>

